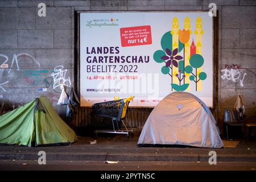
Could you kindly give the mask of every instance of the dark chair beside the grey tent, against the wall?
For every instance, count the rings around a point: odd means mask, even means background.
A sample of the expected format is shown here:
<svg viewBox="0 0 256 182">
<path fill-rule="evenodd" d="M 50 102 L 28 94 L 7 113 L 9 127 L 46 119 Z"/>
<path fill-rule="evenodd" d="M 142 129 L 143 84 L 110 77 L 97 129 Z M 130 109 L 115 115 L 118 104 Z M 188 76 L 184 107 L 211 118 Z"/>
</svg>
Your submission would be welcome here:
<svg viewBox="0 0 256 182">
<path fill-rule="evenodd" d="M 243 128 L 243 137 L 246 135 L 246 123 L 239 120 L 238 112 L 236 109 L 224 110 L 224 123 L 226 124 L 226 139 L 229 140 L 228 126 L 241 126 Z"/>
</svg>

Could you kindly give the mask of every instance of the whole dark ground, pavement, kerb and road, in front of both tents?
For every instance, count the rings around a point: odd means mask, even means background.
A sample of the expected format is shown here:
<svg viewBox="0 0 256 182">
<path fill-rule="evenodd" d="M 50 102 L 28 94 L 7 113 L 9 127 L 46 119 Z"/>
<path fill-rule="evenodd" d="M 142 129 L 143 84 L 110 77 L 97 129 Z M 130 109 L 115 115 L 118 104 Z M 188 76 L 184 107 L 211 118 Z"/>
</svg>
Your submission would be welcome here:
<svg viewBox="0 0 256 182">
<path fill-rule="evenodd" d="M 96 141 L 96 144 L 90 142 Z M 138 138 L 79 137 L 71 146 L 0 146 L 0 170 L 85 171 L 255 171 L 256 141 L 241 140 L 235 148 L 137 147 Z M 39 165 L 39 151 L 46 152 L 46 165 Z M 216 151 L 217 164 L 210 165 L 209 151 Z M 104 163 L 108 161 L 116 164 Z"/>
</svg>

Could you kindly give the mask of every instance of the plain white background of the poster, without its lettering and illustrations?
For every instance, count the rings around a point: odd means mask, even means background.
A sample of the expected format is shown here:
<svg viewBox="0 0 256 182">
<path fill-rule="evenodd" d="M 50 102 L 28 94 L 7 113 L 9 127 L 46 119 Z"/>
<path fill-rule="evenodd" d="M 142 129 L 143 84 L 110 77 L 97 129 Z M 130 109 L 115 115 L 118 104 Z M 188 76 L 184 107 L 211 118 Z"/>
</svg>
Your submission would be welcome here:
<svg viewBox="0 0 256 182">
<path fill-rule="evenodd" d="M 203 81 L 203 89 L 195 91 L 195 84 L 191 81 L 189 93 L 199 97 L 208 107 L 213 106 L 213 22 L 208 12 L 132 12 L 132 13 L 81 13 L 80 14 L 80 101 L 81 106 L 92 106 L 96 102 L 113 100 L 114 97 L 126 98 L 135 96 L 129 106 L 155 106 L 164 97 L 170 94 L 171 81 L 169 75 L 161 72 L 163 63 L 156 63 L 153 59 L 154 52 L 162 50 L 162 36 L 172 30 L 172 19 L 177 17 L 179 29 L 184 27 L 185 17 L 191 21 L 191 42 L 195 40 L 193 33 L 196 28 L 196 18 L 200 16 L 203 22 L 203 71 L 207 73 L 207 79 Z M 115 20 L 117 26 L 89 26 L 89 22 L 112 23 Z M 120 28 L 151 26 L 152 44 L 143 46 L 121 46 Z M 86 48 L 119 47 L 118 54 L 88 54 Z M 183 54 L 181 54 L 183 55 Z M 88 56 L 150 56 L 149 63 L 87 63 Z M 102 73 L 87 72 L 87 65 L 116 65 L 119 71 L 120 65 L 137 65 L 138 73 Z M 97 69 L 96 69 L 97 70 Z M 138 76 L 134 80 L 88 80 L 94 76 Z M 96 89 L 120 89 L 120 92 L 105 92 Z M 93 92 L 94 90 L 94 92 Z M 174 91 L 173 91 L 174 92 Z"/>
</svg>

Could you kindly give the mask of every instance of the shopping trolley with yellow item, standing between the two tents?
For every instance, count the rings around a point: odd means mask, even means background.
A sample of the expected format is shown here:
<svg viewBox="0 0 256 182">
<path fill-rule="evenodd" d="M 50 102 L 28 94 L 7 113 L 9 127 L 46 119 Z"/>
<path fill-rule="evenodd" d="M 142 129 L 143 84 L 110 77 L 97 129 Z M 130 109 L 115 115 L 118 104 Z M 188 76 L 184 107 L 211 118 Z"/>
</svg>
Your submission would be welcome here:
<svg viewBox="0 0 256 182">
<path fill-rule="evenodd" d="M 98 133 L 112 133 L 112 134 L 124 134 L 126 140 L 129 137 L 133 137 L 133 128 L 130 123 L 127 122 L 131 130 L 128 130 L 125 122 L 128 105 L 134 97 L 123 98 L 121 100 L 114 100 L 108 102 L 96 103 L 92 106 L 93 114 L 100 115 L 102 117 L 112 118 L 113 130 L 95 130 L 96 136 Z M 122 123 L 125 130 L 119 129 L 119 124 Z M 116 126 L 115 126 L 116 125 Z"/>
</svg>

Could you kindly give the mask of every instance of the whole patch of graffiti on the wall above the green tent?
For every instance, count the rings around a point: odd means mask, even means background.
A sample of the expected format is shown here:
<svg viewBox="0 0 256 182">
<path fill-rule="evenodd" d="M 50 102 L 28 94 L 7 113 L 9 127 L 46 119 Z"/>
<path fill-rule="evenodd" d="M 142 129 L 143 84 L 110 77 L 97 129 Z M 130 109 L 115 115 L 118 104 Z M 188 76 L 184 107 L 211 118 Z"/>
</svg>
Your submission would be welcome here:
<svg viewBox="0 0 256 182">
<path fill-rule="evenodd" d="M 53 93 L 44 92 L 38 95 L 47 96 L 52 104 L 56 104 L 61 92 L 60 86 L 71 86 L 67 72 L 68 69 L 64 69 L 63 65 L 58 65 L 54 69 L 42 69 L 40 63 L 28 53 L 14 53 L 12 59 L 0 53 L 0 115 L 15 108 L 14 100 L 6 97 L 9 94 L 8 86 L 35 88 L 38 92 L 47 91 L 42 88 L 53 88 Z"/>
</svg>

